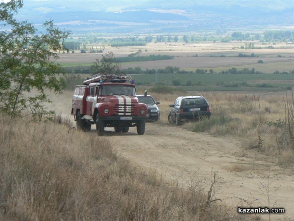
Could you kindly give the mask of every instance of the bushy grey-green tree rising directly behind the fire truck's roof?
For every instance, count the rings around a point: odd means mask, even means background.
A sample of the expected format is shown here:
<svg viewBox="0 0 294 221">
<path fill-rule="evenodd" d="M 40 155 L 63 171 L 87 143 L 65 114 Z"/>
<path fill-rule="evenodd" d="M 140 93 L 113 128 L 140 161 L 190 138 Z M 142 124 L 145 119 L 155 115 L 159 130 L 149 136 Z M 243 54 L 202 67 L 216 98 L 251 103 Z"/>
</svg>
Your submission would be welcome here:
<svg viewBox="0 0 294 221">
<path fill-rule="evenodd" d="M 101 60 L 96 59 L 94 65 L 90 67 L 93 74 L 108 74 L 108 75 L 121 75 L 122 67 L 119 62 L 114 58 L 113 52 L 108 52 L 102 55 Z"/>
</svg>

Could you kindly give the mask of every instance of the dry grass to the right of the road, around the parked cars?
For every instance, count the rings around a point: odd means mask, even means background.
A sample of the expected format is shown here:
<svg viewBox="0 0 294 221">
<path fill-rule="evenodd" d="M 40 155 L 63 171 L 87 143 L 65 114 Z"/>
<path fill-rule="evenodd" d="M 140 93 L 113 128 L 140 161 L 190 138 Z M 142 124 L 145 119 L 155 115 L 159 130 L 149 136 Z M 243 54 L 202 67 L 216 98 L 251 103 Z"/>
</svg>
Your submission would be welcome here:
<svg viewBox="0 0 294 221">
<path fill-rule="evenodd" d="M 182 95 L 196 95 L 186 93 Z M 265 95 L 233 94 L 233 93 L 201 93 L 209 102 L 212 116 L 209 120 L 189 122 L 182 127 L 196 132 L 207 132 L 218 136 L 233 136 L 243 142 L 246 149 L 258 148 L 270 161 L 281 166 L 292 166 L 294 162 L 294 140 L 289 134 L 289 124 L 286 124 L 285 114 L 286 92 Z M 169 104 L 173 104 L 176 94 L 151 94 L 160 101 L 161 120 L 159 123 L 169 124 L 167 117 Z M 291 92 L 288 92 L 290 107 L 293 107 Z M 260 104 L 260 110 L 259 110 Z M 292 106 L 291 106 L 292 105 Z M 289 108 L 288 108 L 289 109 Z M 293 115 L 293 111 L 292 111 Z M 289 120 L 288 120 L 289 121 Z M 258 124 L 262 139 L 258 145 Z M 292 132 L 294 130 L 292 123 Z M 293 135 L 292 135 L 293 136 Z"/>
</svg>

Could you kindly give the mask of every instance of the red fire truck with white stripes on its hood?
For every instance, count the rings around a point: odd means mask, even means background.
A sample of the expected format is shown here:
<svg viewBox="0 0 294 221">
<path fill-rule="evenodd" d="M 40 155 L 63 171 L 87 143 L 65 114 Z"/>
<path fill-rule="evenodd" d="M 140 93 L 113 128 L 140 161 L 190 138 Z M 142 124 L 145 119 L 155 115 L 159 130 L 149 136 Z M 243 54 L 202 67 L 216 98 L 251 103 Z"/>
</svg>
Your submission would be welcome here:
<svg viewBox="0 0 294 221">
<path fill-rule="evenodd" d="M 115 75 L 94 75 L 76 85 L 71 115 L 78 130 L 90 131 L 96 124 L 99 136 L 105 127 L 122 133 L 137 127 L 137 133 L 143 135 L 148 119 L 147 105 L 136 98 L 134 79 Z"/>
</svg>

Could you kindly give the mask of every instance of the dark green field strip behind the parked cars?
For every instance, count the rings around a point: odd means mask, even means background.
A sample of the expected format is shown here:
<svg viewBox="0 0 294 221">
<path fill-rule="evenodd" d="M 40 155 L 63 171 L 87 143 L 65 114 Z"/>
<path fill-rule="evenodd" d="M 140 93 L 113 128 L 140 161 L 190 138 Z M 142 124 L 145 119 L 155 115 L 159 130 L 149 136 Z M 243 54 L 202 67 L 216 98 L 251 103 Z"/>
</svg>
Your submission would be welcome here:
<svg viewBox="0 0 294 221">
<path fill-rule="evenodd" d="M 139 85 L 171 86 L 179 80 L 184 90 L 279 91 L 294 87 L 293 74 L 138 74 L 132 78 Z"/>
</svg>

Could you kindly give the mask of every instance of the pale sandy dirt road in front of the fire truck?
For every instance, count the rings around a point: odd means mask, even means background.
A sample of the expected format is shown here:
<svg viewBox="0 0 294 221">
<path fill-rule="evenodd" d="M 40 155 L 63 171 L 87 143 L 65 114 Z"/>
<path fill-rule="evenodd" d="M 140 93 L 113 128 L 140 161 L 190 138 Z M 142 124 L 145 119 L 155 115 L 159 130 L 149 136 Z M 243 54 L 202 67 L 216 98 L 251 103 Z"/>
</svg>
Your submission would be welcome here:
<svg viewBox="0 0 294 221">
<path fill-rule="evenodd" d="M 92 128 L 90 133 L 96 133 Z M 191 181 L 201 182 L 208 191 L 216 172 L 215 197 L 222 202 L 236 210 L 242 204 L 282 207 L 286 214 L 270 215 L 271 220 L 294 220 L 293 170 L 266 163 L 262 154 L 243 149 L 238 140 L 159 123 L 147 123 L 143 136 L 137 135 L 135 128 L 126 134 L 106 128 L 104 137 L 119 155 L 139 166 L 156 169 L 167 181 L 178 180 L 185 186 Z"/>
</svg>

